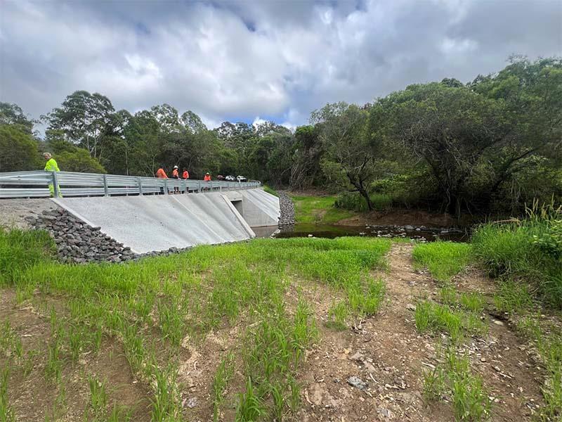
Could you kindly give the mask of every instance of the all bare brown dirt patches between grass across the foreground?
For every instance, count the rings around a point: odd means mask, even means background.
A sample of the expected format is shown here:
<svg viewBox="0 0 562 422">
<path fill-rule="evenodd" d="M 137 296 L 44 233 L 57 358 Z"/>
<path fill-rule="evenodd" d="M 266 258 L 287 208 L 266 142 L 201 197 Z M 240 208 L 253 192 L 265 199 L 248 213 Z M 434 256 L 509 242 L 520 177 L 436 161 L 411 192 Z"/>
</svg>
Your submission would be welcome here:
<svg viewBox="0 0 562 422">
<path fill-rule="evenodd" d="M 287 420 L 295 421 L 451 421 L 452 407 L 447 403 L 426 405 L 421 396 L 424 371 L 440 363 L 440 338 L 420 335 L 414 325 L 414 304 L 418 299 L 436 295 L 438 283 L 426 271 L 412 268 L 412 245 L 395 243 L 389 255 L 389 268 L 372 276 L 386 281 L 386 304 L 381 313 L 345 331 L 327 328 L 327 310 L 339 293 L 319 285 L 299 289 L 314 307 L 320 340 L 307 352 L 301 368 L 301 409 Z M 468 269 L 454 279 L 459 290 L 478 290 L 490 295 L 492 284 L 476 269 Z M 287 303 L 299 293 L 291 288 Z M 24 350 L 41 352 L 34 358 L 30 375 L 18 375 L 11 383 L 10 403 L 18 421 L 44 421 L 58 407 L 54 397 L 44 394 L 52 386 L 45 381 L 46 340 L 49 316 L 45 309 L 32 305 L 14 305 L 13 290 L 0 296 L 0 319 L 8 319 L 22 337 Z M 48 304 L 49 306 L 53 304 Z M 290 305 L 289 305 L 290 307 Z M 533 359 L 530 347 L 520 340 L 507 321 L 486 316 L 486 338 L 468 338 L 462 349 L 469 353 L 472 370 L 481 374 L 485 388 L 495 402 L 492 421 L 532 421 L 533 411 L 542 403 L 540 385 L 543 373 Z M 184 340 L 178 381 L 181 400 L 190 421 L 211 421 L 211 391 L 214 373 L 228 350 L 240 350 L 234 344 L 240 338 L 240 324 L 225 331 L 211 332 L 201 343 Z M 0 359 L 1 361 L 1 359 Z M 0 362 L 1 364 L 2 362 Z M 95 356 L 83 355 L 75 367 L 65 366 L 63 379 L 70 381 L 63 393 L 67 412 L 64 421 L 82 421 L 88 407 L 89 388 L 80 374 L 93 373 L 107 379 L 110 396 L 133 407 L 131 421 L 150 420 L 150 388 L 131 373 L 117 339 L 106 339 Z M 365 390 L 349 385 L 352 376 L 367 384 Z M 227 394 L 236 397 L 237 380 Z M 15 385 L 15 387 L 13 387 Z M 232 421 L 233 400 L 227 400 L 221 420 Z"/>
</svg>

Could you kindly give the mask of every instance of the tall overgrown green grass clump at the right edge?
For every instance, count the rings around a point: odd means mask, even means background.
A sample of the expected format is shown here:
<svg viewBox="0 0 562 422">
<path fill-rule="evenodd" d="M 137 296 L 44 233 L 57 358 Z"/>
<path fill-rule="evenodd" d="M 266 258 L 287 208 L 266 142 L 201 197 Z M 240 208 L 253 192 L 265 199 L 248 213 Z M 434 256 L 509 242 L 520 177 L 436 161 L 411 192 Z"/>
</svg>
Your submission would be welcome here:
<svg viewBox="0 0 562 422">
<path fill-rule="evenodd" d="M 560 212 L 530 212 L 521 222 L 484 224 L 472 237 L 473 250 L 491 276 L 524 279 L 537 297 L 562 309 Z"/>
</svg>

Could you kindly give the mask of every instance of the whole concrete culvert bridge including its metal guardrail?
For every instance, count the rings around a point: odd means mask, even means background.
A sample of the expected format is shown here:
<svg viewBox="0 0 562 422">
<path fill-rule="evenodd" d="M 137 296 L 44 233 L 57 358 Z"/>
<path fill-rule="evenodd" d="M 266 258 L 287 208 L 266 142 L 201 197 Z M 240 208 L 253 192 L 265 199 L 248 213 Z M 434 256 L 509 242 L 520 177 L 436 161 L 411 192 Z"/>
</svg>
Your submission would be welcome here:
<svg viewBox="0 0 562 422">
<path fill-rule="evenodd" d="M 280 216 L 278 198 L 259 181 L 8 172 L 0 198 L 51 200 L 136 253 L 242 241 L 257 227 L 274 229 Z"/>
</svg>

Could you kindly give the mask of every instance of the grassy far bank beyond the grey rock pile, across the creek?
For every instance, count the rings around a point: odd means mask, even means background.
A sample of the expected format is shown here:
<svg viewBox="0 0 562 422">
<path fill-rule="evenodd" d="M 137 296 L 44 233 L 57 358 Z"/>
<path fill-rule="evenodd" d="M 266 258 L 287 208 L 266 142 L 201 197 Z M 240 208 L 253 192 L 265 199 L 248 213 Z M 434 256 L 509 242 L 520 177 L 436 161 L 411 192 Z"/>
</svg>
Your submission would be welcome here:
<svg viewBox="0 0 562 422">
<path fill-rule="evenodd" d="M 334 207 L 336 196 L 291 196 L 297 223 L 334 224 L 355 212 Z"/>
</svg>

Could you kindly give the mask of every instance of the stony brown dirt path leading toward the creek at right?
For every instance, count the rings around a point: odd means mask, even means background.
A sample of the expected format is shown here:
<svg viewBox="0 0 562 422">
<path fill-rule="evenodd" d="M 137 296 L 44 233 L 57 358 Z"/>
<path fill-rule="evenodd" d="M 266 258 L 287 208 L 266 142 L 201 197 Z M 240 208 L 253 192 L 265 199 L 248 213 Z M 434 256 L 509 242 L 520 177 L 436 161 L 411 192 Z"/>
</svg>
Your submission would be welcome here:
<svg viewBox="0 0 562 422">
<path fill-rule="evenodd" d="M 451 421 L 447 403 L 424 404 L 422 376 L 437 365 L 439 338 L 419 335 L 413 305 L 435 295 L 438 284 L 424 271 L 412 268 L 412 245 L 395 243 L 388 256 L 388 303 L 381 314 L 361 321 L 352 330 L 334 332 L 320 326 L 322 340 L 308 356 L 301 378 L 305 385 L 301 421 Z M 459 277 L 465 290 L 478 273 Z M 476 280 L 475 280 L 476 281 Z M 481 286 L 482 283 L 476 283 Z M 531 409 L 541 402 L 540 375 L 526 345 L 504 325 L 490 319 L 487 338 L 468 338 L 464 344 L 473 371 L 481 373 L 495 404 L 493 421 L 530 421 Z M 499 369 L 499 371 L 498 371 Z M 365 390 L 348 384 L 352 376 L 367 383 Z"/>
</svg>

